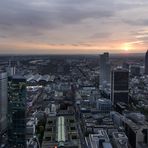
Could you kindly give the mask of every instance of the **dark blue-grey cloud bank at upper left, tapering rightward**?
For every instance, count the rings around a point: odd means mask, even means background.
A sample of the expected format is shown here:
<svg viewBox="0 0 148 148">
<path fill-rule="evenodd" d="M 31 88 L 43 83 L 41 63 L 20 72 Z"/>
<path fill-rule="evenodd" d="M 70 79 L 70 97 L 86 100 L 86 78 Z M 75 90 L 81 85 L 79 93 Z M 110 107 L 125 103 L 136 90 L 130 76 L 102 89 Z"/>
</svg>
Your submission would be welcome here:
<svg viewBox="0 0 148 148">
<path fill-rule="evenodd" d="M 2 7 L 0 9 L 0 28 L 23 29 L 23 27 L 30 27 L 31 29 L 53 29 L 61 25 L 80 23 L 86 18 L 99 19 L 113 15 L 110 10 L 87 10 L 84 6 L 78 8 L 73 5 L 67 7 L 68 1 L 62 1 L 65 2 L 65 5 L 61 5 L 61 7 L 58 4 L 49 8 L 45 7 L 45 9 L 44 6 L 36 8 L 34 5 L 29 5 L 29 1 L 26 1 L 26 3 L 22 0 L 0 2 L 0 8 Z M 84 3 L 84 0 L 82 1 L 81 3 Z M 73 2 L 70 1 L 69 3 Z"/>
</svg>

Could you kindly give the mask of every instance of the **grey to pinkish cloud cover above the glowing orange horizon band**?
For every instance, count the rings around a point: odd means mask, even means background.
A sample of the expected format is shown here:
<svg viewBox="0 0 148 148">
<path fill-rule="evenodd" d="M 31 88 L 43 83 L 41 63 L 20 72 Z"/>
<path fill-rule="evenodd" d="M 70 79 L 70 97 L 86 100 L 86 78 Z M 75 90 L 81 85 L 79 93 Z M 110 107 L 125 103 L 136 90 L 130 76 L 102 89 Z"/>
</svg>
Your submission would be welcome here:
<svg viewBox="0 0 148 148">
<path fill-rule="evenodd" d="M 0 41 L 77 47 L 91 39 L 91 47 L 100 39 L 134 40 L 136 32 L 148 25 L 147 4 L 147 0 L 1 0 Z"/>
</svg>

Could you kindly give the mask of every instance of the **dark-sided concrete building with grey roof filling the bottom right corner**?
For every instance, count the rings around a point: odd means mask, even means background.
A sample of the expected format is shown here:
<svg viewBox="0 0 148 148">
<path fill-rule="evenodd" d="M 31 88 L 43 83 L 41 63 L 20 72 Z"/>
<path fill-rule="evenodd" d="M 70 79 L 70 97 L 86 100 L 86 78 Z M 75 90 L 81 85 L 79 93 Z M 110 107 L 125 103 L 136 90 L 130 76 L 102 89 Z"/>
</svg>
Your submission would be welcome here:
<svg viewBox="0 0 148 148">
<path fill-rule="evenodd" d="M 148 147 L 148 123 L 146 121 L 143 121 L 143 123 L 139 122 L 141 118 L 143 120 L 143 117 L 136 117 L 134 115 L 131 118 L 131 113 L 123 116 L 117 112 L 111 112 L 111 117 L 118 129 L 124 128 L 128 142 L 132 148 Z"/>
</svg>

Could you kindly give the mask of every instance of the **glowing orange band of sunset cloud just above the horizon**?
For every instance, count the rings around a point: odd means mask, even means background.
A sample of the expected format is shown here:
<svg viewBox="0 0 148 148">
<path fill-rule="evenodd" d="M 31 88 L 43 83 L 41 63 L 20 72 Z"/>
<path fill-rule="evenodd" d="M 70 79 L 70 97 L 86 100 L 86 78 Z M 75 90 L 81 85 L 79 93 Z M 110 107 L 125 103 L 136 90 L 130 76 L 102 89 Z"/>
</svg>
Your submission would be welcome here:
<svg viewBox="0 0 148 148">
<path fill-rule="evenodd" d="M 105 46 L 104 46 L 105 45 Z M 9 42 L 0 43 L 1 53 L 18 53 L 18 54 L 98 54 L 99 52 L 108 51 L 116 52 L 144 52 L 145 48 L 141 46 L 141 41 L 126 42 L 108 42 L 107 43 L 79 43 L 79 44 L 46 44 L 33 42 Z"/>
</svg>

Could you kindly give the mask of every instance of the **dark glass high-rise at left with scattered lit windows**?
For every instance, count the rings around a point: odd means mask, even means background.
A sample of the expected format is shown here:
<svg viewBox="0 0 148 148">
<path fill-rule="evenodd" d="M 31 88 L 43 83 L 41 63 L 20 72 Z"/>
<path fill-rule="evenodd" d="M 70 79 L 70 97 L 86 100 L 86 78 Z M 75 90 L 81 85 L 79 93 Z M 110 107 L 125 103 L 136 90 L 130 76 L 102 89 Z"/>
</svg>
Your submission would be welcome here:
<svg viewBox="0 0 148 148">
<path fill-rule="evenodd" d="M 11 148 L 26 148 L 26 79 L 8 80 L 8 142 Z"/>
</svg>

